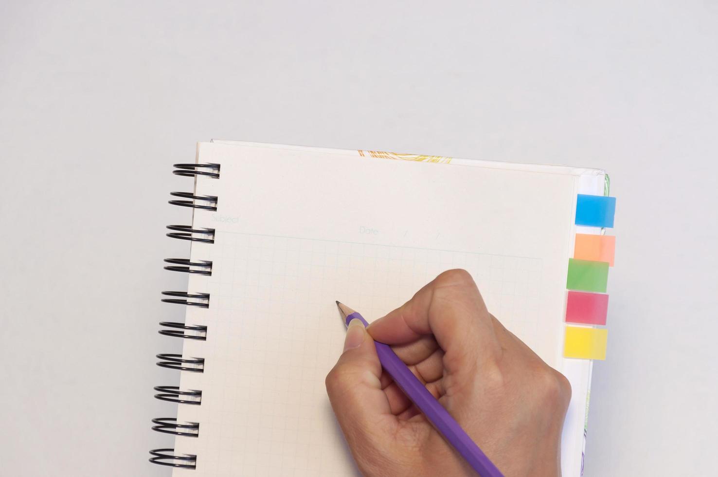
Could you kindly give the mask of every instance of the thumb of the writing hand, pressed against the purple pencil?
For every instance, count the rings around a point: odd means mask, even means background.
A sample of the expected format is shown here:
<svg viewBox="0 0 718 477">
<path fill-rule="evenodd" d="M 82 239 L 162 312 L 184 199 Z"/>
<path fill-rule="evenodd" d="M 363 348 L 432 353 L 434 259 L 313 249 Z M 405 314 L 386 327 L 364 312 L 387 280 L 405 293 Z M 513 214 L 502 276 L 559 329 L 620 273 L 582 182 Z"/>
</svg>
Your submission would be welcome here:
<svg viewBox="0 0 718 477">
<path fill-rule="evenodd" d="M 349 323 L 344 352 L 325 381 L 332 409 L 353 452 L 366 448 L 377 421 L 391 417 L 381 389 L 381 363 L 374 341 L 360 320 Z"/>
</svg>

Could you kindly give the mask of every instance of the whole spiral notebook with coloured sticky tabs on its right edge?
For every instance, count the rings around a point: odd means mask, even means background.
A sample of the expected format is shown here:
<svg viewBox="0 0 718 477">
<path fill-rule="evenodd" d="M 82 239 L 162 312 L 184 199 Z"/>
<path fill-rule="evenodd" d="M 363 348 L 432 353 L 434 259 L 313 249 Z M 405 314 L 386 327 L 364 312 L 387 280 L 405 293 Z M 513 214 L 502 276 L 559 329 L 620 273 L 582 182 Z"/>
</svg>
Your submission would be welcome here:
<svg viewBox="0 0 718 477">
<path fill-rule="evenodd" d="M 564 476 L 582 473 L 593 359 L 605 358 L 615 199 L 602 170 L 365 150 L 214 141 L 197 145 L 192 210 L 168 235 L 191 244 L 182 354 L 158 386 L 154 430 L 174 476 L 350 476 L 325 376 L 345 330 L 335 300 L 368 320 L 437 274 L 467 269 L 490 312 L 571 381 Z M 181 182 L 185 180 L 187 182 Z M 178 178 L 185 187 L 190 179 Z"/>
</svg>

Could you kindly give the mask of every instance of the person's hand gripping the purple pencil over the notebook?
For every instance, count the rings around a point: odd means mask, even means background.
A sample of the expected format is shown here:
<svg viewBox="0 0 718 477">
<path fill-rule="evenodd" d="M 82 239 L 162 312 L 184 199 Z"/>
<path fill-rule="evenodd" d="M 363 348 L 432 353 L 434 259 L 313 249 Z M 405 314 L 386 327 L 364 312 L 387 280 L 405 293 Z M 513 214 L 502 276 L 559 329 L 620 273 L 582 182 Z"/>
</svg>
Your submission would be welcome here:
<svg viewBox="0 0 718 477">
<path fill-rule="evenodd" d="M 449 270 L 364 328 L 352 320 L 327 393 L 365 476 L 473 475 L 381 369 L 387 343 L 505 476 L 559 476 L 568 380 L 491 315 L 470 274 Z"/>
</svg>

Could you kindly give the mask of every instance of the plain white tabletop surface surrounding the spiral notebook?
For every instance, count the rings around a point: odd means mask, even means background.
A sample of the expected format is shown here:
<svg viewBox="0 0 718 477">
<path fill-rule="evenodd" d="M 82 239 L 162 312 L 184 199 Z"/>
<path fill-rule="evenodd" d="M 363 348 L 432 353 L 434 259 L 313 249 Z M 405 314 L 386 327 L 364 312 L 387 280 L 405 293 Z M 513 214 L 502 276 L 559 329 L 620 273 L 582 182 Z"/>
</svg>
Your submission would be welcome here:
<svg viewBox="0 0 718 477">
<path fill-rule="evenodd" d="M 169 475 L 170 167 L 212 137 L 605 168 L 585 475 L 713 471 L 717 46 L 709 1 L 4 1 L 0 473 Z"/>
</svg>

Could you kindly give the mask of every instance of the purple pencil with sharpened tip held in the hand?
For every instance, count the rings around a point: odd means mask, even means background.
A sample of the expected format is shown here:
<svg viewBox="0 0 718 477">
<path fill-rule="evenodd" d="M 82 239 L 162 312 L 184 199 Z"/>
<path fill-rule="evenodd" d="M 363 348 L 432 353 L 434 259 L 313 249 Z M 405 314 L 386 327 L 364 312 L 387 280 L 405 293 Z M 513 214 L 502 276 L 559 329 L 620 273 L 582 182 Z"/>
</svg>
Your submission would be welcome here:
<svg viewBox="0 0 718 477">
<path fill-rule="evenodd" d="M 337 307 L 339 307 L 342 318 L 344 318 L 345 325 L 349 325 L 349 322 L 354 318 L 364 323 L 364 326 L 369 325 L 362 315 L 350 307 L 340 302 L 337 302 Z M 396 356 L 391 346 L 379 343 L 378 341 L 375 341 L 374 345 L 376 346 L 376 353 L 379 356 L 379 361 L 381 361 L 381 366 L 384 371 L 391 376 L 396 385 L 406 394 L 406 397 L 424 413 L 426 419 L 444 436 L 444 439 L 465 458 L 467 463 L 469 463 L 481 477 L 502 477 L 503 474 L 498 468 L 493 465 L 491 460 L 486 457 L 485 453 L 482 452 L 479 446 L 476 445 L 465 430 L 462 429 L 459 423 L 451 417 L 449 412 L 439 404 L 432 393 L 426 389 L 426 386 L 414 376 L 411 370 L 404 364 L 404 361 L 401 361 L 401 358 Z"/>
</svg>

